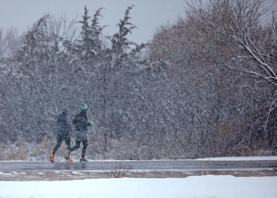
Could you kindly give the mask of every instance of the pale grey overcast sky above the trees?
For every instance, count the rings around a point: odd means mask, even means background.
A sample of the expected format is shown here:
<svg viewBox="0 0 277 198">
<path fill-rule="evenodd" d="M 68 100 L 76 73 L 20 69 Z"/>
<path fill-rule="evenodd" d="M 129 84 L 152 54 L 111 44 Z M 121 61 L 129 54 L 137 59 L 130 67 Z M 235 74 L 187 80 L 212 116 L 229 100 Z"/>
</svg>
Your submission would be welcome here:
<svg viewBox="0 0 277 198">
<path fill-rule="evenodd" d="M 274 0 L 267 0 L 268 4 Z M 132 23 L 138 27 L 130 36 L 134 42 L 141 43 L 150 40 L 159 25 L 173 23 L 178 16 L 185 16 L 184 0 L 0 0 L 0 28 L 16 27 L 19 33 L 44 14 L 61 16 L 66 14 L 69 19 L 78 15 L 82 19 L 84 6 L 87 5 L 89 15 L 104 7 L 100 20 L 101 25 L 108 25 L 105 34 L 112 35 L 117 31 L 116 24 L 123 18 L 126 8 L 135 5 L 130 16 Z M 277 9 L 277 2 L 274 4 Z"/>
</svg>

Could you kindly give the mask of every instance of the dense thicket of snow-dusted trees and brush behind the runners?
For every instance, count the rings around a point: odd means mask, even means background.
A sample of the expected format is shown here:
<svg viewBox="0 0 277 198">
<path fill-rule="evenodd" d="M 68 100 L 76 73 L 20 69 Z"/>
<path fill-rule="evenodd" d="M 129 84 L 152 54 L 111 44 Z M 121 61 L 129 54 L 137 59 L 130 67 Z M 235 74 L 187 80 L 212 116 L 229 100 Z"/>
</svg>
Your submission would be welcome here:
<svg viewBox="0 0 277 198">
<path fill-rule="evenodd" d="M 94 121 L 88 131 L 90 158 L 276 151 L 274 120 L 263 132 L 275 85 L 222 67 L 211 51 L 222 59 L 234 51 L 192 14 L 162 27 L 150 45 L 128 40 L 135 28 L 131 9 L 110 37 L 101 36 L 101 8 L 91 17 L 86 7 L 81 28 L 74 20 L 45 16 L 21 36 L 18 50 L 0 59 L 0 142 L 28 145 L 22 137 L 50 145 L 60 108 L 68 106 L 73 117 L 85 102 Z M 208 38 L 202 38 L 205 43 L 200 35 Z M 146 60 L 141 57 L 145 47 Z"/>
</svg>

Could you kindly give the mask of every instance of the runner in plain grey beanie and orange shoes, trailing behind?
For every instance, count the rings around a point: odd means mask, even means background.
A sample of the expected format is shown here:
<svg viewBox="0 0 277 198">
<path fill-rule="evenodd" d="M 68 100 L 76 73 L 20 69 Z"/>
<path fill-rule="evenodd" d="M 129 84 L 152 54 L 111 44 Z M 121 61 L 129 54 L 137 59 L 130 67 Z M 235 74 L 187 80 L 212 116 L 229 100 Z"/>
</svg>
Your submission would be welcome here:
<svg viewBox="0 0 277 198">
<path fill-rule="evenodd" d="M 63 107 L 63 112 L 58 115 L 57 118 L 57 145 L 53 149 L 52 155 L 50 155 L 50 161 L 55 161 L 55 153 L 58 150 L 58 148 L 61 146 L 62 141 L 64 140 L 67 147 L 66 150 L 68 154 L 65 155 L 65 159 L 67 161 L 72 162 L 73 160 L 69 157 L 69 150 L 70 150 L 70 131 L 72 131 L 72 128 L 70 124 L 68 124 L 69 115 L 68 115 L 68 107 Z"/>
</svg>

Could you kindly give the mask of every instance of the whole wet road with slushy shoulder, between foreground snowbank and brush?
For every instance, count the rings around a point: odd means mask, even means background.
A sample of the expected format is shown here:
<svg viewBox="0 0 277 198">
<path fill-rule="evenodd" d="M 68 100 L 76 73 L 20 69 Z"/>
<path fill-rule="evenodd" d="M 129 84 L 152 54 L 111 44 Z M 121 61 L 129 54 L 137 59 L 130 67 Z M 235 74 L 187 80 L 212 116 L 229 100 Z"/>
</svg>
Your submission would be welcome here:
<svg viewBox="0 0 277 198">
<path fill-rule="evenodd" d="M 224 159 L 224 160 L 221 160 Z M 239 159 L 239 160 L 238 160 Z M 186 178 L 199 175 L 199 169 L 214 169 L 216 175 L 277 176 L 276 156 L 210 158 L 197 160 L 141 160 L 129 163 L 133 178 Z M 215 161 L 216 160 L 216 161 Z M 111 170 L 119 161 L 79 162 L 0 162 L 0 181 L 49 181 L 105 178 L 104 170 Z"/>
</svg>

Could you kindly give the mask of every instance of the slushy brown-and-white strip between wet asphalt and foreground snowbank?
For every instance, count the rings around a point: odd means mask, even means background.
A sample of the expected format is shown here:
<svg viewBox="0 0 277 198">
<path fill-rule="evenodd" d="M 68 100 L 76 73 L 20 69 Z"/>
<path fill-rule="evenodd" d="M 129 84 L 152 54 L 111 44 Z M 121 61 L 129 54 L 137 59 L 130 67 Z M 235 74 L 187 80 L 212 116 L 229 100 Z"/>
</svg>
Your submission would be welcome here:
<svg viewBox="0 0 277 198">
<path fill-rule="evenodd" d="M 207 171 L 207 169 L 204 169 Z M 277 176 L 277 169 L 232 169 L 216 170 L 214 175 L 233 175 L 235 177 L 264 177 Z M 186 178 L 202 175 L 196 170 L 151 170 L 136 169 L 126 174 L 128 178 Z M 0 172 L 0 181 L 63 181 L 107 178 L 103 170 L 98 171 L 10 171 Z M 1 194 L 0 194 L 1 195 Z M 0 196 L 1 198 L 1 196 Z"/>
</svg>

